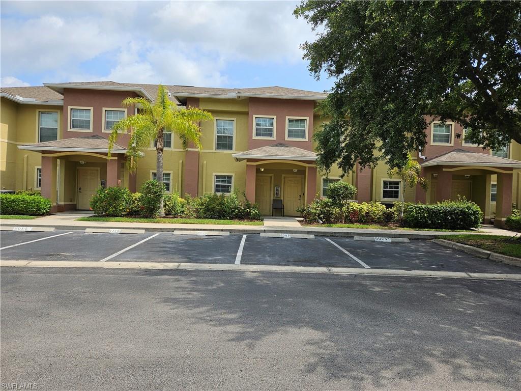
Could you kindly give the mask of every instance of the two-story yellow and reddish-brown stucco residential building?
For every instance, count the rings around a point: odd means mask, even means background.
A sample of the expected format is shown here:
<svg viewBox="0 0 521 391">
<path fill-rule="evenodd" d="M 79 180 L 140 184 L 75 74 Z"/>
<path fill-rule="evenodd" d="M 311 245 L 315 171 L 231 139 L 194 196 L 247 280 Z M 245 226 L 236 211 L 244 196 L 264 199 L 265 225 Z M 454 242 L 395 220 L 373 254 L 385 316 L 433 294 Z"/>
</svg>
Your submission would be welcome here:
<svg viewBox="0 0 521 391">
<path fill-rule="evenodd" d="M 250 89 L 167 85 L 170 99 L 200 107 L 214 116 L 202 124 L 202 149 L 184 150 L 179 138 L 165 136 L 164 180 L 168 192 L 201 195 L 244 191 L 263 214 L 281 199 L 286 215 L 322 196 L 329 184 L 344 180 L 358 188 L 357 200 L 392 203 L 405 191 L 407 201 L 436 202 L 458 195 L 474 200 L 486 222 L 495 214 L 501 225 L 521 202 L 521 146 L 483 151 L 465 143 L 456 123 L 430 121 L 427 146 L 415 153 L 429 180 L 429 190 L 404 189 L 388 178 L 387 167 L 358 167 L 340 179 L 317 171 L 313 133 L 326 121 L 315 111 L 325 93 L 282 87 Z M 129 136 L 118 139 L 108 156 L 113 124 L 135 113 L 121 101 L 128 96 L 153 100 L 157 85 L 79 82 L 45 83 L 41 87 L 2 88 L 1 188 L 39 190 L 52 200 L 53 212 L 89 209 L 100 186 L 131 191 L 155 176 L 155 148 L 144 151 L 137 173 L 128 172 Z"/>
</svg>

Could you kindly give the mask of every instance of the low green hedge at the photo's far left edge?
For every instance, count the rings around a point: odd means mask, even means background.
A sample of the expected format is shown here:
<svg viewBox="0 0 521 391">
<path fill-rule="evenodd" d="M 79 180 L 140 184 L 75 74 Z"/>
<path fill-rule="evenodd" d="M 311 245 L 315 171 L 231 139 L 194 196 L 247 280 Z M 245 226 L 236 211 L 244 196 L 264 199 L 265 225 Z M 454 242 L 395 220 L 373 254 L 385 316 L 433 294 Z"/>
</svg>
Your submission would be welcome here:
<svg viewBox="0 0 521 391">
<path fill-rule="evenodd" d="M 51 211 L 51 200 L 40 193 L 0 194 L 0 213 L 41 216 Z"/>
</svg>

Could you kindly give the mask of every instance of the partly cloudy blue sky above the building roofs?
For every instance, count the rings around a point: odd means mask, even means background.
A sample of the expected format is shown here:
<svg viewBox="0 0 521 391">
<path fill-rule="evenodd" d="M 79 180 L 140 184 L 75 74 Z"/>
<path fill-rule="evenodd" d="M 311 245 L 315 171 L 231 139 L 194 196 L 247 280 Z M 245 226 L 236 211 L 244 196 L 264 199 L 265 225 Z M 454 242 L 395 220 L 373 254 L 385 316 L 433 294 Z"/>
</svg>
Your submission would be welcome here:
<svg viewBox="0 0 521 391">
<path fill-rule="evenodd" d="M 313 91 L 295 2 L 2 2 L 2 85 L 113 80 Z"/>
</svg>

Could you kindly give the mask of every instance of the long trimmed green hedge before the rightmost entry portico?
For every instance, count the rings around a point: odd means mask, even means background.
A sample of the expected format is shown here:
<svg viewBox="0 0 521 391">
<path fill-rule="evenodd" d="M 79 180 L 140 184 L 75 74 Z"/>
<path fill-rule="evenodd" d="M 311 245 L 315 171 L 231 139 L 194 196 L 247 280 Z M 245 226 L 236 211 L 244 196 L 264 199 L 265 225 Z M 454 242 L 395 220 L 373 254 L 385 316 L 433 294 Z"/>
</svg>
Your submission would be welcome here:
<svg viewBox="0 0 521 391">
<path fill-rule="evenodd" d="M 410 228 L 470 229 L 479 228 L 483 212 L 465 199 L 436 204 L 406 203 L 402 224 Z"/>
</svg>

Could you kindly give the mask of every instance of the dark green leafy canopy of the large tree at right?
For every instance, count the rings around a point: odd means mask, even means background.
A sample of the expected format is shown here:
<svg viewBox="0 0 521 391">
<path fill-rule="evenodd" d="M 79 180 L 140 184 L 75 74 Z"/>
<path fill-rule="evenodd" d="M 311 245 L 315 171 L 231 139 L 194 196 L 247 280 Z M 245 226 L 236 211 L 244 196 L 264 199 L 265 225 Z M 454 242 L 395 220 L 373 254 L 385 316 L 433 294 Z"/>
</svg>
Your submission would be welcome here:
<svg viewBox="0 0 521 391">
<path fill-rule="evenodd" d="M 322 168 L 401 167 L 429 115 L 483 148 L 521 143 L 521 2 L 305 0 L 294 14 L 320 31 L 303 45 L 309 70 L 335 80 L 315 135 Z"/>
</svg>

